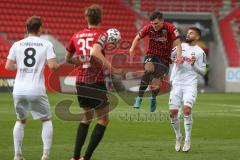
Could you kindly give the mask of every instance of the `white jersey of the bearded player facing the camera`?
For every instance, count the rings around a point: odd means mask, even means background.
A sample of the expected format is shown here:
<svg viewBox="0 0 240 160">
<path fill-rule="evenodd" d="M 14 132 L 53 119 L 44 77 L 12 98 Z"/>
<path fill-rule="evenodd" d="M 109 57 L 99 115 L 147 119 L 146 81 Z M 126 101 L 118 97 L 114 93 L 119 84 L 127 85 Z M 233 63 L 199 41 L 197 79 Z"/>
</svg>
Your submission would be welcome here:
<svg viewBox="0 0 240 160">
<path fill-rule="evenodd" d="M 176 49 L 173 49 L 173 55 L 176 55 Z M 170 81 L 172 84 L 197 85 L 199 74 L 205 74 L 206 56 L 204 51 L 198 46 L 190 46 L 188 43 L 182 43 L 182 64 L 174 64 L 171 72 Z M 196 62 L 191 65 L 192 56 L 196 57 Z"/>
</svg>

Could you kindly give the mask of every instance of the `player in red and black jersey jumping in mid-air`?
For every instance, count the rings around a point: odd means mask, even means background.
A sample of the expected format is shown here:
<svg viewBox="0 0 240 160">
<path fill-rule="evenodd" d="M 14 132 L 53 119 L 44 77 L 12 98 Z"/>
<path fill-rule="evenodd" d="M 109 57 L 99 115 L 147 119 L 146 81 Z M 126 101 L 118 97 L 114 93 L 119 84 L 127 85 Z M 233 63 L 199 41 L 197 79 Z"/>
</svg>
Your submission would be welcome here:
<svg viewBox="0 0 240 160">
<path fill-rule="evenodd" d="M 142 97 L 149 83 L 154 80 L 162 79 L 164 74 L 168 73 L 169 63 L 171 62 L 171 50 L 173 43 L 177 48 L 177 63 L 182 62 L 182 49 L 179 33 L 174 25 L 165 22 L 160 11 L 153 11 L 150 16 L 150 24 L 147 24 L 140 33 L 134 38 L 132 46 L 129 50 L 130 57 L 134 55 L 134 49 L 138 42 L 146 36 L 149 36 L 149 47 L 144 59 L 145 73 L 141 78 L 138 97 L 135 99 L 134 107 L 140 108 Z M 160 83 L 160 82 L 159 82 Z M 159 88 L 152 90 L 150 111 L 156 110 L 156 96 Z"/>
</svg>

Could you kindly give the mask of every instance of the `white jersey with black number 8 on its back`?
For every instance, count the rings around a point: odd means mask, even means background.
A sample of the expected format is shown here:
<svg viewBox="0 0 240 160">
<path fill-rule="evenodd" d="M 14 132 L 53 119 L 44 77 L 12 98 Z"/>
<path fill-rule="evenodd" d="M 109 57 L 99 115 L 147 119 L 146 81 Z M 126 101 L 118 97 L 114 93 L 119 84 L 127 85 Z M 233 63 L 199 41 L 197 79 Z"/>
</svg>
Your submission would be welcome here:
<svg viewBox="0 0 240 160">
<path fill-rule="evenodd" d="M 44 67 L 47 60 L 55 58 L 51 42 L 29 36 L 13 44 L 8 59 L 16 61 L 14 95 L 45 95 Z"/>
</svg>

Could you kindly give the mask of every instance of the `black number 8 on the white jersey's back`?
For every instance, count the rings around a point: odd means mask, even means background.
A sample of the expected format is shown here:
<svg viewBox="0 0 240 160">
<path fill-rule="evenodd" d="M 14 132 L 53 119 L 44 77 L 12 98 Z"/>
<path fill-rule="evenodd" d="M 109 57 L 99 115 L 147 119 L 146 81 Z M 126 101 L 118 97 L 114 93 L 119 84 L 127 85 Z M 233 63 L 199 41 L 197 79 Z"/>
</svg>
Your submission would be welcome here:
<svg viewBox="0 0 240 160">
<path fill-rule="evenodd" d="M 34 48 L 27 48 L 24 51 L 24 64 L 27 67 L 33 67 L 36 63 L 35 55 L 36 55 L 36 50 Z"/>
</svg>

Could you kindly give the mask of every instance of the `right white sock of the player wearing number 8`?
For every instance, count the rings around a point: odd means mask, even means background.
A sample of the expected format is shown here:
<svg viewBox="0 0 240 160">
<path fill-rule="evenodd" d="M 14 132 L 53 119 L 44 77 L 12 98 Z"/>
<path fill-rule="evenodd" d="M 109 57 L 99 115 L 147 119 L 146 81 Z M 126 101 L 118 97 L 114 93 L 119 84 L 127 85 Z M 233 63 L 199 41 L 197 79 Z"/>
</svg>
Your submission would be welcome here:
<svg viewBox="0 0 240 160">
<path fill-rule="evenodd" d="M 43 155 L 49 156 L 52 145 L 53 126 L 52 121 L 42 124 Z"/>
</svg>

